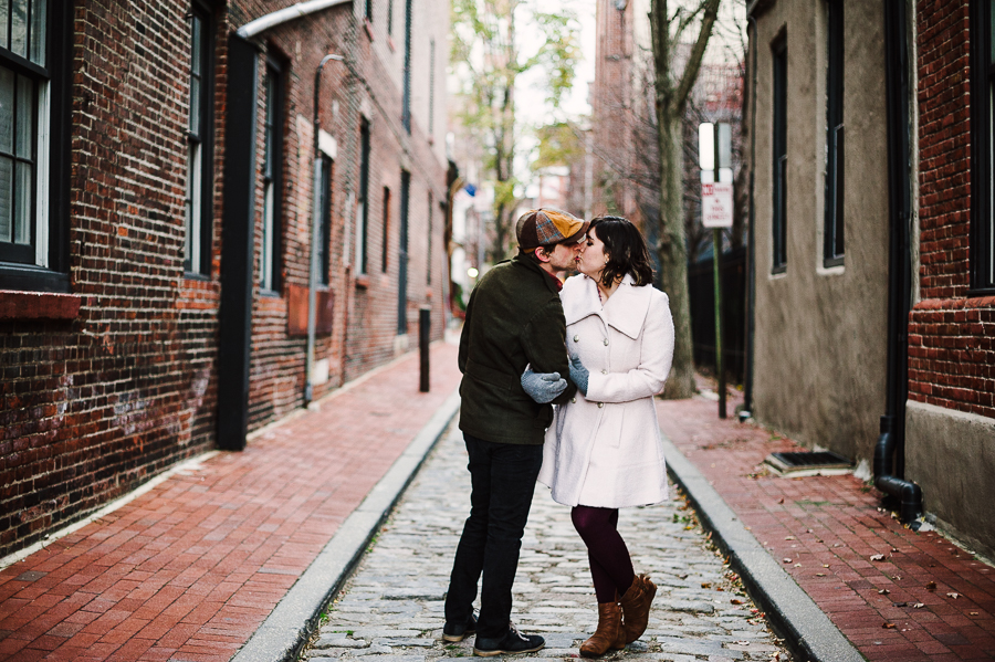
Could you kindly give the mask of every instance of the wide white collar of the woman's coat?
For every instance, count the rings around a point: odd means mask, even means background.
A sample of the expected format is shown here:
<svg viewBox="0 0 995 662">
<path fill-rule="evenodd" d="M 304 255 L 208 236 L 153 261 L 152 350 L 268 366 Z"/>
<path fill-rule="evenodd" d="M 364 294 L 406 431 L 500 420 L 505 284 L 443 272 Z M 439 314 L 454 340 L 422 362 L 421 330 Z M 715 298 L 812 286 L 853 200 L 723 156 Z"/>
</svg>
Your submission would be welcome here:
<svg viewBox="0 0 995 662">
<path fill-rule="evenodd" d="M 626 274 L 618 290 L 601 306 L 598 286 L 584 274 L 570 276 L 563 284 L 559 296 L 567 324 L 574 324 L 588 315 L 601 317 L 608 326 L 633 340 L 639 337 L 646 313 L 649 311 L 652 285 L 637 287 L 630 274 Z"/>
</svg>

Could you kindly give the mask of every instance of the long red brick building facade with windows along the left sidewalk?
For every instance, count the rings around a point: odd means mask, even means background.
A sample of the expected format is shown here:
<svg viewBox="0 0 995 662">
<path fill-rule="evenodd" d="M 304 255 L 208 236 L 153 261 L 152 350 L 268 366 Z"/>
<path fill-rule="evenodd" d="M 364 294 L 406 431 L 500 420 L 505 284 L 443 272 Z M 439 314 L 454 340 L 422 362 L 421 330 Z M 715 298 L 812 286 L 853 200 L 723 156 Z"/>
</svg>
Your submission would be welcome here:
<svg viewBox="0 0 995 662">
<path fill-rule="evenodd" d="M 0 556 L 442 336 L 448 4 L 291 4 L 3 19 Z"/>
</svg>

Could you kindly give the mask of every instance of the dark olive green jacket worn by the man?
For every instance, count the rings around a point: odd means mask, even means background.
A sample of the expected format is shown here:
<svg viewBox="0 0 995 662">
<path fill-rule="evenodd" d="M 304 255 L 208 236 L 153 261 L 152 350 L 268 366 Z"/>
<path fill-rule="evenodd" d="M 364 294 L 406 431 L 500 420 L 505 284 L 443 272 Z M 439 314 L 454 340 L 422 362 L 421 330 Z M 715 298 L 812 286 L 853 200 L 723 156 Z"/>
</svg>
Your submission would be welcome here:
<svg viewBox="0 0 995 662">
<path fill-rule="evenodd" d="M 499 443 L 543 443 L 552 404 L 538 404 L 522 389 L 525 366 L 559 372 L 566 402 L 569 381 L 566 319 L 557 283 L 530 258 L 496 264 L 470 295 L 460 338 L 460 430 Z"/>
</svg>

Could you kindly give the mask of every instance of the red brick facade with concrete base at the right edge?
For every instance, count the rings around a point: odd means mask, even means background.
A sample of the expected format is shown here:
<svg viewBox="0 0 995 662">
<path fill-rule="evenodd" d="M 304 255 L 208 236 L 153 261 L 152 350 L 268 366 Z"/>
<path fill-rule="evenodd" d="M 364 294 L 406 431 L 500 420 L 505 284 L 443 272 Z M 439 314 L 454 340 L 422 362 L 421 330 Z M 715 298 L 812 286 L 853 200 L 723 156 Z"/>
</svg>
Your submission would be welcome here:
<svg viewBox="0 0 995 662">
<path fill-rule="evenodd" d="M 991 8 L 921 1 L 918 263 L 909 319 L 909 476 L 929 509 L 995 556 Z"/>
</svg>

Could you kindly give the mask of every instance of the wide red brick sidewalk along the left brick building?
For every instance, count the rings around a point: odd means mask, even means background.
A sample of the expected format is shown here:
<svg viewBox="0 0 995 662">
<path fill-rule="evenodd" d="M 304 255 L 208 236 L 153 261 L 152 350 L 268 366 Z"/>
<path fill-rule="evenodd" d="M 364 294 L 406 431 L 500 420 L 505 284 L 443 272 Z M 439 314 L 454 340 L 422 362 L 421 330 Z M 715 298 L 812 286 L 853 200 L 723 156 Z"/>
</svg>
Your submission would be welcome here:
<svg viewBox="0 0 995 662">
<path fill-rule="evenodd" d="M 0 571 L 0 660 L 227 661 L 457 388 L 413 353 Z"/>
</svg>

